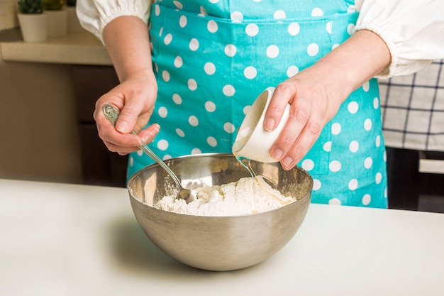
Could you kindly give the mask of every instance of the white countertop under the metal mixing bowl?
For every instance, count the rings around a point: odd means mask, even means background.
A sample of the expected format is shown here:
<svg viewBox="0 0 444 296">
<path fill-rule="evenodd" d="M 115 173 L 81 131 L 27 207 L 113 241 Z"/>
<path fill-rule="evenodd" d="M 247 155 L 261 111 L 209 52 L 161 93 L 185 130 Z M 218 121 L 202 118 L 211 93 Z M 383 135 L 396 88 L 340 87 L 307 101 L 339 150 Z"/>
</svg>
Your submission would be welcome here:
<svg viewBox="0 0 444 296">
<path fill-rule="evenodd" d="M 264 263 L 190 268 L 124 188 L 0 180 L 1 295 L 444 295 L 444 214 L 311 204 Z"/>
</svg>

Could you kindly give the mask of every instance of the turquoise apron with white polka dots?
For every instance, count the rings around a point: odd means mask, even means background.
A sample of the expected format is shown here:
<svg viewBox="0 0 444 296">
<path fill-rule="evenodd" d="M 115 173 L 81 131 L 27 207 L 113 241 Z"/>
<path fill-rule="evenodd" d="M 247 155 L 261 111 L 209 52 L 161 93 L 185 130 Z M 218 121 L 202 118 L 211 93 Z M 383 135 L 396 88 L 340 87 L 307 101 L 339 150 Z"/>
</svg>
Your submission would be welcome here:
<svg viewBox="0 0 444 296">
<path fill-rule="evenodd" d="M 350 37 L 354 1 L 156 1 L 150 16 L 158 98 L 150 148 L 168 159 L 231 153 L 236 131 L 267 87 L 313 65 Z M 379 89 L 370 80 L 343 103 L 299 165 L 312 201 L 387 207 Z M 128 176 L 153 161 L 131 153 Z"/>
</svg>

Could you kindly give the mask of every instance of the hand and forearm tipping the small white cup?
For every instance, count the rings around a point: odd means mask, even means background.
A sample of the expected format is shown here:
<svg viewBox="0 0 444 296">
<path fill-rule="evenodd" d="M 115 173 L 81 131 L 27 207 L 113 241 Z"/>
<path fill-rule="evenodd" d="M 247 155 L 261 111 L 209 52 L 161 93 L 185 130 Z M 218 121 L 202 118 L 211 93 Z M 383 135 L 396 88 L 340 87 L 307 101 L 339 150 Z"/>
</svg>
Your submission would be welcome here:
<svg viewBox="0 0 444 296">
<path fill-rule="evenodd" d="M 270 149 L 272 157 L 285 170 L 294 168 L 338 112 L 340 104 L 390 62 L 384 41 L 372 31 L 362 30 L 311 67 L 279 84 L 265 113 L 264 128 L 274 130 L 285 106 L 292 106 L 287 124 Z"/>
</svg>

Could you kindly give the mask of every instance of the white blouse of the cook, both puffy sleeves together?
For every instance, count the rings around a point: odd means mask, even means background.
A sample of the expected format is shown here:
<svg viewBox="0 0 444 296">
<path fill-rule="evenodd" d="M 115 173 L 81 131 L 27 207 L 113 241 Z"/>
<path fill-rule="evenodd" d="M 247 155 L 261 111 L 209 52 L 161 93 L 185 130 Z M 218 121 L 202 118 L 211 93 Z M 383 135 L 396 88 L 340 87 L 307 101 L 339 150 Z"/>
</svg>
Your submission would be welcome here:
<svg viewBox="0 0 444 296">
<path fill-rule="evenodd" d="M 147 23 L 151 4 L 152 0 L 77 0 L 77 16 L 103 42 L 105 26 L 118 16 L 136 16 Z M 377 33 L 392 55 L 391 65 L 378 78 L 408 75 L 444 58 L 444 0 L 356 0 L 355 9 L 360 15 L 354 31 Z"/>
</svg>

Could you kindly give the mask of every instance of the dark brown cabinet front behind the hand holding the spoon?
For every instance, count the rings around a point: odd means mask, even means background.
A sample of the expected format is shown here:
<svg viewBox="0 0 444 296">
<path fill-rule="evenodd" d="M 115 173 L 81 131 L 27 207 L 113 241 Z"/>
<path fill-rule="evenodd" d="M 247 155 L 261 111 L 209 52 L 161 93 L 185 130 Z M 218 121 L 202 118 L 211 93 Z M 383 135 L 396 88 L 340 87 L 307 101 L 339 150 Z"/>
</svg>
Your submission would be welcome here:
<svg viewBox="0 0 444 296">
<path fill-rule="evenodd" d="M 97 134 L 93 118 L 96 100 L 118 84 L 111 66 L 73 65 L 77 124 L 82 152 L 82 182 L 125 187 L 128 156 L 110 152 Z"/>
</svg>

